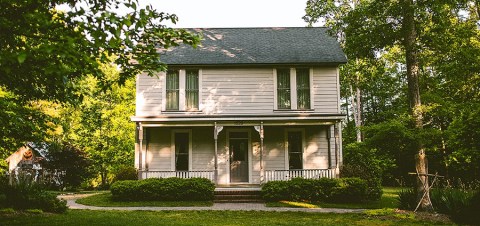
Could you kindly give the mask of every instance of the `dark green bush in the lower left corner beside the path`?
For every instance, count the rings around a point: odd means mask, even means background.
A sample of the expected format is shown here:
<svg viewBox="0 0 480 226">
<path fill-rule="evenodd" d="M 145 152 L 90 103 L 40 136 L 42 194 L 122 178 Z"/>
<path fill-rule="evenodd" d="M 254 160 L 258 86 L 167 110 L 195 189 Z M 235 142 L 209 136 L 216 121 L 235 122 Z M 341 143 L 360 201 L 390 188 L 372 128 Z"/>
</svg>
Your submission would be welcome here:
<svg viewBox="0 0 480 226">
<path fill-rule="evenodd" d="M 64 213 L 67 210 L 65 200 L 57 199 L 55 194 L 35 184 L 4 184 L 0 187 L 0 196 L 3 196 L 0 198 L 0 208 L 39 209 L 52 213 Z"/>
</svg>

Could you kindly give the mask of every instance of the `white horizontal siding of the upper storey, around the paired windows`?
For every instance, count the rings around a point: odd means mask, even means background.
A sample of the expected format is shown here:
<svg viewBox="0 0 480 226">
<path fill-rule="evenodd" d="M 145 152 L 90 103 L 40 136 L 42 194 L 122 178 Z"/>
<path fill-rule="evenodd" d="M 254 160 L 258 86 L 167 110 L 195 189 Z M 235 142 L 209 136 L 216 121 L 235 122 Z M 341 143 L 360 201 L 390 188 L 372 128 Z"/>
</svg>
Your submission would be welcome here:
<svg viewBox="0 0 480 226">
<path fill-rule="evenodd" d="M 312 69 L 312 108 L 339 113 L 336 67 Z M 162 114 L 164 73 L 137 77 L 137 116 Z M 205 114 L 275 114 L 273 68 L 202 69 L 200 110 Z"/>
</svg>

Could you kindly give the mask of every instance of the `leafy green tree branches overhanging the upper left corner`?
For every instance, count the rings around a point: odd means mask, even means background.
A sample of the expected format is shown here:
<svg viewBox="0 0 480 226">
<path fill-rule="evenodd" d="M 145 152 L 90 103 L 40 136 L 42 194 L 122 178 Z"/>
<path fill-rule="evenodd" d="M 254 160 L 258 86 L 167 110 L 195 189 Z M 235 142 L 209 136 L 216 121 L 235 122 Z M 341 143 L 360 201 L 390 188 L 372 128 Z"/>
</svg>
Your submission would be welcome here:
<svg viewBox="0 0 480 226">
<path fill-rule="evenodd" d="M 61 4 L 70 10 L 57 10 Z M 0 157 L 42 140 L 53 120 L 42 101 L 81 101 L 85 76 L 107 90 L 140 72 L 165 70 L 159 49 L 199 42 L 162 24 L 175 23 L 174 14 L 141 8 L 137 0 L 0 0 L 0 9 Z M 120 68 L 114 80 L 101 69 L 110 56 Z"/>
</svg>

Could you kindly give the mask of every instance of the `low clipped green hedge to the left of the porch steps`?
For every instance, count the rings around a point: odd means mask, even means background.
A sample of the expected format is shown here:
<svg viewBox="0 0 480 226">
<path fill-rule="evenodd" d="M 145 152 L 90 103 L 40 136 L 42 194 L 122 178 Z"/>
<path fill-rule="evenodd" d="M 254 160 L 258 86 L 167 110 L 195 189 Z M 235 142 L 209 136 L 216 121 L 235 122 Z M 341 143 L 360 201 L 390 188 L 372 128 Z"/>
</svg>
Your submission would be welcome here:
<svg viewBox="0 0 480 226">
<path fill-rule="evenodd" d="M 149 178 L 117 181 L 110 187 L 117 201 L 211 201 L 215 185 L 205 178 Z"/>
</svg>

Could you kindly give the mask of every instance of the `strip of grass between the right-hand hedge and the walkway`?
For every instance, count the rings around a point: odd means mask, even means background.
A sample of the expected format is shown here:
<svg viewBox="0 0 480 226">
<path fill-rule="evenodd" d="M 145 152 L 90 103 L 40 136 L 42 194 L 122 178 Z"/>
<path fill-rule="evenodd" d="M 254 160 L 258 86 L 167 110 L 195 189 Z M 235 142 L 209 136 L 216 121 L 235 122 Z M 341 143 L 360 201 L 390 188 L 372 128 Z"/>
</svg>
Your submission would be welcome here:
<svg viewBox="0 0 480 226">
<path fill-rule="evenodd" d="M 342 209 L 383 209 L 398 207 L 398 192 L 402 188 L 385 187 L 378 201 L 367 203 L 302 203 L 302 202 L 269 202 L 268 207 L 300 207 L 300 208 L 342 208 Z"/>
</svg>

